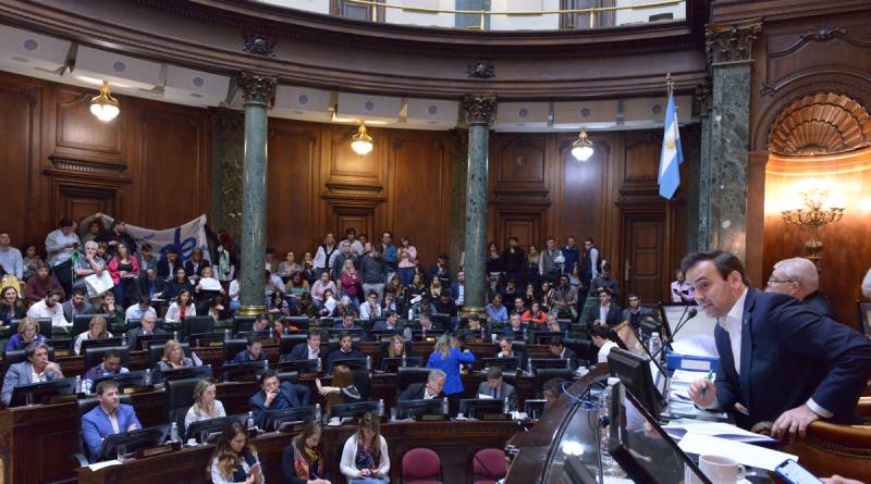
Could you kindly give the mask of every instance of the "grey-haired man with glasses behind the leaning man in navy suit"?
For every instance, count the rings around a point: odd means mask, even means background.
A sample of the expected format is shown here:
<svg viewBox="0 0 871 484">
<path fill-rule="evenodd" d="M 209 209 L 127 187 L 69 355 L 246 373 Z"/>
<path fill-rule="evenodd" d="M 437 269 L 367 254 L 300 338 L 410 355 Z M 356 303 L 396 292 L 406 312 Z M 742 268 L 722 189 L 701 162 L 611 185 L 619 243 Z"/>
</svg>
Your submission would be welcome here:
<svg viewBox="0 0 871 484">
<path fill-rule="evenodd" d="M 829 300 L 820 293 L 817 265 L 808 259 L 795 257 L 775 263 L 765 290 L 793 296 L 817 314 L 836 319 Z"/>
</svg>

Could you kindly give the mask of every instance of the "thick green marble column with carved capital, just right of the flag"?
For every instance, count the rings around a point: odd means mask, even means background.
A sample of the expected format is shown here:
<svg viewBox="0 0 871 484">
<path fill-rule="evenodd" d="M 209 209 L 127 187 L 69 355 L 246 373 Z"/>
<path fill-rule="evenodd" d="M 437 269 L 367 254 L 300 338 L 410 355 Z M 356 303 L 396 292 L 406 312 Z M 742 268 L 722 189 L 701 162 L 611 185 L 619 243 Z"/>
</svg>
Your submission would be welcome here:
<svg viewBox="0 0 871 484">
<path fill-rule="evenodd" d="M 710 200 L 707 244 L 741 260 L 747 243 L 747 166 L 750 144 L 750 66 L 759 21 L 711 24 L 708 60 L 713 71 L 708 145 L 702 148 L 700 199 Z M 703 126 L 704 131 L 704 126 Z M 702 138 L 702 144 L 704 144 Z M 700 213 L 700 218 L 703 216 Z"/>
</svg>

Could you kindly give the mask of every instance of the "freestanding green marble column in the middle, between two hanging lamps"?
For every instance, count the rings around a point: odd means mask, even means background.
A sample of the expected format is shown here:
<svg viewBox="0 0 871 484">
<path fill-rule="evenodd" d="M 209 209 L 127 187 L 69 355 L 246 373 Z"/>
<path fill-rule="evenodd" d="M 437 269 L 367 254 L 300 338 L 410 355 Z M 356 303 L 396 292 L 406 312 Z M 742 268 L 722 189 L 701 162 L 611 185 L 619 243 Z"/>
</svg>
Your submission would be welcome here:
<svg viewBox="0 0 871 484">
<path fill-rule="evenodd" d="M 466 172 L 466 313 L 483 313 L 487 306 L 487 171 L 494 96 L 466 96 L 463 110 L 469 127 Z"/>
</svg>

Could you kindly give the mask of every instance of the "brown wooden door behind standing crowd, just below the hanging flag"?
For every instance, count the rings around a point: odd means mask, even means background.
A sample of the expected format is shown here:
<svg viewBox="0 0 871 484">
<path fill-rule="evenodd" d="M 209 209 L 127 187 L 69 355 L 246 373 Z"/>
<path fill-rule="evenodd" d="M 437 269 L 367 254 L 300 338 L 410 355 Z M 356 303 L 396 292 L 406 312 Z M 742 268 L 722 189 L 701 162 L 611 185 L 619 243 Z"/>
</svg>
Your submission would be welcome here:
<svg viewBox="0 0 871 484">
<path fill-rule="evenodd" d="M 642 303 L 652 305 L 662 298 L 664 273 L 665 216 L 661 213 L 624 213 L 623 294 L 630 293 Z M 619 277 L 617 274 L 613 274 Z"/>
</svg>

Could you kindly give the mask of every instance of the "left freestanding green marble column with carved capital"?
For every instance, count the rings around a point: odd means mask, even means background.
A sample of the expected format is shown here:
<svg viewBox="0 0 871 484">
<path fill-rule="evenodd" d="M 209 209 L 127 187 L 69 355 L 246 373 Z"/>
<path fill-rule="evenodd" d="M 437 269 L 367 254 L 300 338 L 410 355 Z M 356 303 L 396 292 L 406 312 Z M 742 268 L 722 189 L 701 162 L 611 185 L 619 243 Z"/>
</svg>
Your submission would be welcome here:
<svg viewBox="0 0 871 484">
<path fill-rule="evenodd" d="M 242 315 L 263 312 L 266 265 L 266 141 L 267 112 L 275 97 L 274 77 L 242 72 L 237 77 L 245 99 L 245 157 L 242 171 Z"/>
</svg>

